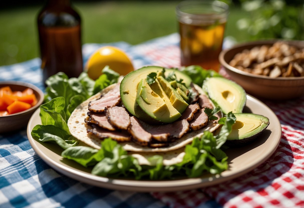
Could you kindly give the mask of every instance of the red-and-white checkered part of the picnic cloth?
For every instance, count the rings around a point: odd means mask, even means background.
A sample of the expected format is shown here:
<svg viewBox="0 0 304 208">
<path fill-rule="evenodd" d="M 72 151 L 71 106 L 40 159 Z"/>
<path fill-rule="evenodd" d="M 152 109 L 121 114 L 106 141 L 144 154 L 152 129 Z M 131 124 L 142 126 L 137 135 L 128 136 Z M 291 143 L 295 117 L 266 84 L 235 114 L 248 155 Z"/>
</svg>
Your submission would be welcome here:
<svg viewBox="0 0 304 208">
<path fill-rule="evenodd" d="M 154 65 L 180 67 L 178 45 L 148 44 L 138 50 Z M 204 207 L 210 199 L 223 207 L 304 207 L 304 97 L 262 101 L 275 112 L 282 126 L 281 142 L 266 162 L 216 186 L 152 195 L 174 208 Z"/>
</svg>

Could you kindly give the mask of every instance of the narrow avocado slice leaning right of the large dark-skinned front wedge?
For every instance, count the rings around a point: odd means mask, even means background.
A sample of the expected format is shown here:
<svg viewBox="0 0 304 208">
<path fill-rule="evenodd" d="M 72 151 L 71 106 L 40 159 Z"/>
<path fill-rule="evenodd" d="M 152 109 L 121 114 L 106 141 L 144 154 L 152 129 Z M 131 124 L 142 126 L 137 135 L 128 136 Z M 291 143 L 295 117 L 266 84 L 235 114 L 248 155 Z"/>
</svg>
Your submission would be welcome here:
<svg viewBox="0 0 304 208">
<path fill-rule="evenodd" d="M 157 77 L 157 81 L 160 83 L 161 88 L 164 90 L 172 106 L 183 113 L 188 107 L 188 103 L 181 97 L 181 95 L 171 86 L 171 84 L 162 76 Z"/>
</svg>

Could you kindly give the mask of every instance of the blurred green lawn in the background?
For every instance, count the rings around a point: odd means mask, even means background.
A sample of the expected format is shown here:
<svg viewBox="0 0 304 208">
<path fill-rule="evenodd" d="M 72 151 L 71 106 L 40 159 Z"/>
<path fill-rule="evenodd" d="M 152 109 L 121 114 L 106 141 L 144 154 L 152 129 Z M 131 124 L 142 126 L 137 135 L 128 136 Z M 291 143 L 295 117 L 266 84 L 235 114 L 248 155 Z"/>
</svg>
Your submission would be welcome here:
<svg viewBox="0 0 304 208">
<path fill-rule="evenodd" d="M 138 44 L 177 32 L 175 6 L 178 1 L 89 2 L 75 6 L 82 18 L 82 42 L 125 41 Z M 39 57 L 36 15 L 40 7 L 3 10 L 0 13 L 0 65 L 9 65 Z M 248 39 L 239 32 L 236 21 L 246 16 L 231 8 L 226 35 L 238 41 Z"/>
</svg>

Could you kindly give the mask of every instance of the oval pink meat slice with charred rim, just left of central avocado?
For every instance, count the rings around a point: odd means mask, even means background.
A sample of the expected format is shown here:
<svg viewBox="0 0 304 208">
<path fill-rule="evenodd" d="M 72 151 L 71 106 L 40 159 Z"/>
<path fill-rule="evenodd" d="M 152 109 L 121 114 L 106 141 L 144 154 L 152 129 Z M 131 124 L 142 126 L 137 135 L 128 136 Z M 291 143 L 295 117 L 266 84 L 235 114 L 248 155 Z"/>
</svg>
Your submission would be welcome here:
<svg viewBox="0 0 304 208">
<path fill-rule="evenodd" d="M 118 129 L 127 130 L 130 126 L 130 116 L 124 107 L 112 106 L 106 109 L 105 116 Z"/>
</svg>

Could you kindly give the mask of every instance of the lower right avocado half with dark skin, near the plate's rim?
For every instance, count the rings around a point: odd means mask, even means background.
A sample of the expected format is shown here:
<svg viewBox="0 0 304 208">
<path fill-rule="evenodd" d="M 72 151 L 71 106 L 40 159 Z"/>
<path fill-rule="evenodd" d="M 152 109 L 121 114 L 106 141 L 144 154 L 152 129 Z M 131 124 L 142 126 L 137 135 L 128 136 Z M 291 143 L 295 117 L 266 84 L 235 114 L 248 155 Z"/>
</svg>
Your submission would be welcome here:
<svg viewBox="0 0 304 208">
<path fill-rule="evenodd" d="M 233 113 L 237 118 L 232 126 L 232 132 L 227 137 L 228 146 L 242 145 L 253 141 L 269 125 L 269 119 L 265 116 L 253 113 Z"/>
</svg>

